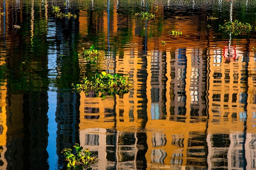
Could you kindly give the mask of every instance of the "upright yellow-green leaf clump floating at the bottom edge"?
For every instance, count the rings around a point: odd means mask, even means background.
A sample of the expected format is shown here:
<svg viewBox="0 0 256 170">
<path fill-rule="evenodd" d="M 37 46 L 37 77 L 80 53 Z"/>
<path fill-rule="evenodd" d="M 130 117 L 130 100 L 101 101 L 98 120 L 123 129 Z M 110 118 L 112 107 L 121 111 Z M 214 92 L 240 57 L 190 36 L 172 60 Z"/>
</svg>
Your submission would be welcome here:
<svg viewBox="0 0 256 170">
<path fill-rule="evenodd" d="M 65 161 L 67 162 L 67 169 L 90 169 L 90 164 L 96 163 L 97 157 L 90 157 L 92 153 L 89 152 L 89 149 L 83 150 L 82 146 L 75 144 L 73 146 L 76 150 L 76 153 L 73 154 L 72 149 L 64 148 L 61 153 L 65 156 Z M 82 154 L 82 150 L 83 153 Z"/>
</svg>

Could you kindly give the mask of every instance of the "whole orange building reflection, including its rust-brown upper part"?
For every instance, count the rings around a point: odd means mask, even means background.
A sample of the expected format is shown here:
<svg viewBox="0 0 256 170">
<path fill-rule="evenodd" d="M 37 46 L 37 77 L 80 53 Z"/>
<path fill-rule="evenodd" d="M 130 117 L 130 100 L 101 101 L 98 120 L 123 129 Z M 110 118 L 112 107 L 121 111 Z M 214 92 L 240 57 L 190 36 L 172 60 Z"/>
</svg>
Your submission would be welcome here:
<svg viewBox="0 0 256 170">
<path fill-rule="evenodd" d="M 99 156 L 95 166 L 141 169 L 138 162 L 145 159 L 148 169 L 255 168 L 256 57 L 247 49 L 253 45 L 234 40 L 235 58 L 226 56 L 227 44 L 191 24 L 202 16 L 173 25 L 166 23 L 178 21 L 168 18 L 161 33 L 146 38 L 137 31 L 149 33 L 159 18 L 141 28 L 141 21 L 112 12 L 111 21 L 107 11 L 100 19 L 100 29 L 109 31 L 105 41 L 123 27 L 131 38 L 127 48 L 105 53 L 103 63 L 135 84 L 128 94 L 106 100 L 81 94 L 80 142 Z M 189 36 L 164 34 L 177 28 Z"/>
</svg>

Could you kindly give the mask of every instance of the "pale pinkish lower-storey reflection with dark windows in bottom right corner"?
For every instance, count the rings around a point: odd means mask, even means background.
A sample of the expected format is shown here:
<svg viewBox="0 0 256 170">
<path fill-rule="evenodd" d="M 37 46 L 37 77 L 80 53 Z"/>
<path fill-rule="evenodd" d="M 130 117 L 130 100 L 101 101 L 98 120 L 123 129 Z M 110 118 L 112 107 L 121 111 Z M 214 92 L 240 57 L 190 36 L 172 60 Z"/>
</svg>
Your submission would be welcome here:
<svg viewBox="0 0 256 170">
<path fill-rule="evenodd" d="M 255 140 L 250 133 L 207 135 L 209 168 L 256 169 Z"/>
</svg>

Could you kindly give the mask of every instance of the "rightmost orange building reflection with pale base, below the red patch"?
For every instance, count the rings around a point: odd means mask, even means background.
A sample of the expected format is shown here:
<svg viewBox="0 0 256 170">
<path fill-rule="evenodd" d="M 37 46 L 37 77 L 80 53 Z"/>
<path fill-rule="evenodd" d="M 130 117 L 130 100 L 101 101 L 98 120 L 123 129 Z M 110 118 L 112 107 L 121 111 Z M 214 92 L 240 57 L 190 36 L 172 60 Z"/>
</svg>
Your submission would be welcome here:
<svg viewBox="0 0 256 170">
<path fill-rule="evenodd" d="M 213 51 L 216 55 L 218 50 Z M 255 103 L 248 56 L 237 55 L 238 62 L 213 58 L 209 62 L 209 126 L 207 135 L 210 168 L 254 169 Z M 216 56 L 219 56 L 217 54 Z M 249 87 L 249 88 L 248 88 Z"/>
</svg>

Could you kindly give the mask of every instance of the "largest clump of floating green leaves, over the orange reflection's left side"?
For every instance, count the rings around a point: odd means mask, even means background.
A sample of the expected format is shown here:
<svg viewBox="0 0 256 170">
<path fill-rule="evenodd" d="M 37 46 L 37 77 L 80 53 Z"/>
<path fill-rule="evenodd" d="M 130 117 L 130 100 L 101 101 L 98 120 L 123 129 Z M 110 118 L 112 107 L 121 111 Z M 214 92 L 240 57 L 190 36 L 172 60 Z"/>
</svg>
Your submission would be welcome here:
<svg viewBox="0 0 256 170">
<path fill-rule="evenodd" d="M 95 74 L 92 80 L 88 80 L 87 77 L 83 78 L 81 84 L 72 83 L 76 92 L 89 92 L 94 91 L 97 97 L 105 99 L 107 95 L 114 96 L 115 94 L 124 94 L 130 91 L 133 83 L 128 81 L 128 77 L 119 76 L 119 74 L 108 74 L 101 72 L 101 74 Z"/>
</svg>

